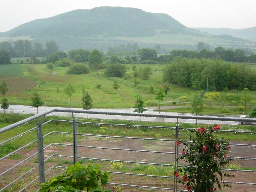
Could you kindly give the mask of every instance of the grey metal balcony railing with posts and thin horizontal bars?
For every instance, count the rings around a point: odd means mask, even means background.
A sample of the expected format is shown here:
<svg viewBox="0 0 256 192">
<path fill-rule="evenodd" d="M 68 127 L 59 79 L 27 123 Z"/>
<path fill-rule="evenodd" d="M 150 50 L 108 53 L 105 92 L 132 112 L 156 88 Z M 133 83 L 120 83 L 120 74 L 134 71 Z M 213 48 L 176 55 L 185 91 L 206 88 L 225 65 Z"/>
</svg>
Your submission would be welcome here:
<svg viewBox="0 0 256 192">
<path fill-rule="evenodd" d="M 92 122 L 80 122 L 77 121 L 76 118 L 73 116 L 72 121 L 68 120 L 56 120 L 52 119 L 47 122 L 44 122 L 44 118 L 46 115 L 51 114 L 52 112 L 68 112 L 72 113 L 72 116 L 74 113 L 81 113 L 81 114 L 100 114 L 100 115 L 118 115 L 118 116 L 139 116 L 139 117 L 151 117 L 151 118 L 174 118 L 176 119 L 176 126 L 175 127 L 168 127 L 168 126 L 144 126 L 144 125 L 132 125 L 132 124 L 108 124 L 108 123 L 92 123 Z M 256 119 L 249 119 L 249 118 L 230 118 L 230 117 L 212 117 L 212 116 L 190 116 L 190 115 L 160 115 L 160 114 L 139 114 L 139 113 L 116 113 L 116 112 L 95 112 L 95 111 L 84 111 L 84 110 L 63 110 L 63 109 L 54 109 L 54 110 L 49 110 L 44 113 L 34 115 L 30 118 L 26 118 L 20 122 L 16 122 L 14 124 L 11 124 L 9 126 L 6 126 L 4 128 L 0 129 L 0 134 L 3 132 L 6 132 L 8 130 L 12 130 L 18 126 L 22 126 L 28 122 L 31 122 L 33 120 L 37 120 L 38 118 L 42 118 L 39 122 L 36 123 L 36 127 L 30 128 L 29 130 L 26 130 L 25 132 L 18 134 L 12 138 L 9 138 L 8 140 L 1 142 L 0 146 L 5 145 L 6 143 L 15 140 L 19 138 L 20 136 L 23 136 L 25 134 L 28 134 L 34 130 L 36 130 L 36 135 L 37 139 L 33 140 L 32 142 L 29 142 L 28 144 L 14 150 L 13 152 L 3 156 L 0 158 L 1 160 L 4 160 L 5 158 L 11 156 L 12 154 L 32 145 L 37 143 L 38 150 L 34 154 L 31 154 L 24 160 L 18 162 L 14 166 L 4 170 L 4 172 L 0 173 L 0 176 L 3 176 L 5 174 L 8 174 L 11 170 L 16 168 L 17 166 L 20 166 L 22 163 L 28 161 L 30 158 L 34 156 L 38 156 L 38 164 L 34 167 L 32 167 L 30 170 L 26 171 L 22 175 L 20 175 L 18 178 L 8 181 L 8 184 L 6 186 L 2 187 L 0 189 L 0 192 L 3 190 L 7 189 L 8 187 L 12 186 L 15 182 L 20 180 L 21 178 L 24 178 L 28 173 L 32 172 L 36 168 L 38 168 L 38 176 L 34 178 L 31 182 L 29 182 L 26 186 L 24 186 L 19 192 L 22 192 L 23 190 L 27 189 L 29 186 L 31 186 L 33 183 L 35 183 L 37 180 L 39 180 L 40 183 L 45 182 L 45 174 L 52 170 L 53 168 L 66 168 L 64 166 L 52 166 L 48 170 L 45 171 L 45 165 L 44 163 L 50 160 L 50 158 L 53 157 L 63 157 L 63 158 L 72 158 L 74 163 L 78 161 L 78 159 L 84 159 L 84 160 L 98 160 L 98 161 L 104 161 L 104 162 L 122 162 L 122 163 L 128 163 L 128 164 L 144 164 L 144 165 L 154 165 L 154 166 L 169 166 L 169 167 L 174 167 L 174 170 L 177 170 L 178 167 L 184 167 L 184 165 L 179 165 L 177 157 L 180 155 L 178 153 L 178 137 L 180 130 L 193 130 L 194 128 L 180 128 L 178 124 L 178 119 L 198 119 L 198 120 L 219 120 L 219 121 L 236 121 L 236 122 L 241 122 L 241 121 L 250 121 L 250 122 L 256 122 Z M 51 131 L 45 135 L 42 133 L 42 126 L 51 122 L 66 122 L 72 124 L 72 130 L 73 132 L 60 132 L 60 131 Z M 83 124 L 83 125 L 91 125 L 91 126 L 117 126 L 117 127 L 138 127 L 138 128 L 159 128 L 159 129 L 172 129 L 175 132 L 175 139 L 164 139 L 164 138 L 141 138 L 141 137 L 127 137 L 127 136 L 109 136 L 109 135 L 96 135 L 96 134 L 84 134 L 84 133 L 78 133 L 77 128 L 78 124 Z M 256 132 L 252 131 L 240 131 L 240 130 L 216 130 L 216 132 L 231 132 L 234 134 L 256 134 Z M 63 144 L 63 143 L 51 143 L 47 146 L 44 146 L 43 139 L 46 136 L 49 136 L 51 134 L 70 134 L 73 135 L 73 144 Z M 155 151 L 155 150 L 138 150 L 138 149 L 125 149 L 125 148 L 110 148 L 110 147 L 98 147 L 98 146 L 89 146 L 89 145 L 80 145 L 77 143 L 77 136 L 89 136 L 89 137 L 98 137 L 98 138 L 119 138 L 119 139 L 130 139 L 130 140 L 150 140 L 150 141 L 168 141 L 168 142 L 174 142 L 175 145 L 175 150 L 174 152 L 166 152 L 166 151 Z M 190 142 L 190 141 L 187 141 Z M 73 148 L 73 156 L 68 156 L 68 155 L 60 155 L 60 154 L 52 154 L 48 158 L 44 158 L 44 150 L 46 148 L 49 148 L 51 146 L 70 146 Z M 251 145 L 251 144 L 236 144 L 236 143 L 231 143 L 230 145 L 232 146 L 240 146 L 240 147 L 256 147 L 256 145 Z M 98 149 L 98 150 L 114 150 L 114 151 L 124 151 L 124 152 L 142 152 L 142 153 L 152 153 L 152 154 L 174 154 L 174 164 L 166 164 L 166 163 L 156 163 L 156 162 L 138 162 L 138 161 L 128 161 L 128 160 L 112 160 L 112 159 L 104 159 L 104 158 L 92 158 L 92 157 L 83 157 L 78 155 L 78 148 L 89 148 L 89 149 Z M 233 157 L 229 156 L 228 158 L 232 159 L 238 159 L 238 160 L 256 160 L 256 158 L 250 158 L 250 157 Z M 251 173 L 256 173 L 254 170 L 237 170 L 237 169 L 227 169 L 227 168 L 222 168 L 223 171 L 235 171 L 235 172 L 251 172 Z M 173 179 L 174 184 L 173 188 L 162 188 L 162 187 L 154 187 L 154 186 L 141 186 L 141 185 L 133 185 L 133 184 L 121 184 L 121 183 L 111 183 L 109 182 L 108 184 L 111 185 L 120 185 L 120 186 L 127 186 L 127 187 L 138 187 L 138 188 L 148 188 L 148 189 L 158 189 L 158 190 L 171 190 L 171 191 L 186 191 L 182 189 L 178 189 L 177 186 L 177 180 L 180 178 L 176 178 L 174 176 L 159 176 L 159 175 L 147 175 L 147 174 L 134 174 L 134 173 L 124 173 L 124 172 L 111 172 L 112 174 L 119 174 L 119 175 L 129 175 L 129 176 L 141 176 L 141 177 L 150 177 L 150 178 L 166 178 L 166 179 Z M 248 182 L 231 182 L 231 181 L 225 181 L 226 183 L 232 183 L 232 184 L 246 184 L 246 185 L 256 185 L 256 183 L 248 183 Z"/>
</svg>

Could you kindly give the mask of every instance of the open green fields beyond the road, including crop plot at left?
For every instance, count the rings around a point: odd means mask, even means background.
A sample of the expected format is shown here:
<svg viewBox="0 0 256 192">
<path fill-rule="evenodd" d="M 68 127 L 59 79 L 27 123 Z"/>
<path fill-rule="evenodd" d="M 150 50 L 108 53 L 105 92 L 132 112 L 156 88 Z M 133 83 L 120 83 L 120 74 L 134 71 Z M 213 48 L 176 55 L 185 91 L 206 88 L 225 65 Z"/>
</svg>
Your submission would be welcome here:
<svg viewBox="0 0 256 192">
<path fill-rule="evenodd" d="M 64 89 L 68 83 L 71 83 L 75 89 L 75 93 L 71 97 L 72 107 L 82 107 L 81 98 L 83 86 L 85 86 L 85 90 L 88 91 L 92 97 L 92 108 L 131 108 L 134 106 L 136 95 L 142 96 L 146 106 L 157 106 L 158 101 L 155 99 L 155 93 L 150 93 L 149 89 L 150 86 L 153 86 L 154 91 L 156 92 L 157 87 L 164 84 L 162 74 L 165 65 L 149 65 L 153 70 L 152 76 L 149 80 L 137 78 L 139 81 L 137 86 L 134 86 L 135 78 L 133 77 L 132 66 L 132 64 L 125 65 L 128 74 L 126 78 L 108 78 L 104 76 L 104 70 L 91 70 L 90 74 L 67 75 L 66 71 L 68 70 L 68 67 L 54 66 L 54 68 L 50 70 L 46 68 L 45 64 L 11 64 L 1 66 L 3 70 L 0 72 L 0 81 L 6 80 L 8 84 L 9 90 L 7 96 L 11 104 L 30 105 L 32 94 L 34 91 L 37 91 L 42 97 L 43 102 L 46 102 L 48 106 L 68 107 L 69 98 L 64 94 Z M 136 66 L 137 68 L 140 68 L 146 65 L 137 64 Z M 115 79 L 120 83 L 120 88 L 117 90 L 117 94 L 112 87 Z M 40 81 L 45 82 L 44 86 L 39 86 L 38 82 Z M 97 83 L 102 85 L 100 91 L 96 88 Z M 57 88 L 59 89 L 58 94 L 56 91 Z M 168 92 L 164 101 L 184 100 L 181 99 L 182 96 L 186 96 L 186 100 L 190 101 L 195 92 L 196 91 L 191 88 L 181 88 L 170 84 L 170 92 Z M 236 90 L 230 91 L 230 93 L 232 93 L 233 96 L 240 94 Z M 227 92 L 221 92 L 221 95 L 224 94 L 227 94 Z M 250 94 L 253 100 L 249 105 L 254 106 L 255 92 L 251 92 Z M 225 105 L 228 106 L 228 104 Z M 212 113 L 242 114 L 242 112 L 237 109 L 234 109 L 234 111 L 226 110 L 228 107 L 224 106 L 224 109 L 206 108 L 204 113 L 208 113 L 208 110 L 210 110 Z M 231 108 L 234 108 L 234 106 Z M 174 108 L 168 111 L 190 113 L 192 110 L 188 108 L 188 106 L 185 106 L 184 108 Z"/>
</svg>

